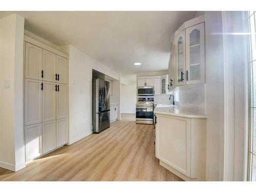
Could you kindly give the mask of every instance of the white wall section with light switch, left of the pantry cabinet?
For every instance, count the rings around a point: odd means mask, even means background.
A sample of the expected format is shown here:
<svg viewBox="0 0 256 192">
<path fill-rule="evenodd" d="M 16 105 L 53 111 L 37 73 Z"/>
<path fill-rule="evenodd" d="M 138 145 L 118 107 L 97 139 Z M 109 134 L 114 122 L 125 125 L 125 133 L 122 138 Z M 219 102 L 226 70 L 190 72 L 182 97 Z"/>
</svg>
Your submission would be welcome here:
<svg viewBox="0 0 256 192">
<path fill-rule="evenodd" d="M 24 17 L 0 19 L 0 166 L 13 171 L 25 167 L 23 40 Z"/>
</svg>

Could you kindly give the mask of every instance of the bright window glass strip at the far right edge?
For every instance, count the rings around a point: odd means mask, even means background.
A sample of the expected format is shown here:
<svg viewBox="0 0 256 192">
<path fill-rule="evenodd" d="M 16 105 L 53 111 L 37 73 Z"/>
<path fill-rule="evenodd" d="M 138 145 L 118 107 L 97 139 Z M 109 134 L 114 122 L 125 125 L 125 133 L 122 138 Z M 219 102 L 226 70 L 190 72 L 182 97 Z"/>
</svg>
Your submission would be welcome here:
<svg viewBox="0 0 256 192">
<path fill-rule="evenodd" d="M 256 181 L 256 29 L 255 29 L 255 11 L 248 12 L 250 27 L 250 127 L 249 127 L 249 174 L 248 180 Z"/>
</svg>

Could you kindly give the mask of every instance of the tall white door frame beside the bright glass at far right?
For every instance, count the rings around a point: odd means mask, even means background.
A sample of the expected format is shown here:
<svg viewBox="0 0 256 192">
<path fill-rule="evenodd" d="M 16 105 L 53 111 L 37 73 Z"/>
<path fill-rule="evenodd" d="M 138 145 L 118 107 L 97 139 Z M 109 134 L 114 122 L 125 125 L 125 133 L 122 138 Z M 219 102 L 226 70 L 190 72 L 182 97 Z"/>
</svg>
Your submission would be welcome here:
<svg viewBox="0 0 256 192">
<path fill-rule="evenodd" d="M 222 12 L 224 50 L 223 180 L 247 180 L 248 28 L 246 12 Z M 239 48 L 239 49 L 238 49 Z M 243 65 L 241 65 L 241 63 Z"/>
</svg>

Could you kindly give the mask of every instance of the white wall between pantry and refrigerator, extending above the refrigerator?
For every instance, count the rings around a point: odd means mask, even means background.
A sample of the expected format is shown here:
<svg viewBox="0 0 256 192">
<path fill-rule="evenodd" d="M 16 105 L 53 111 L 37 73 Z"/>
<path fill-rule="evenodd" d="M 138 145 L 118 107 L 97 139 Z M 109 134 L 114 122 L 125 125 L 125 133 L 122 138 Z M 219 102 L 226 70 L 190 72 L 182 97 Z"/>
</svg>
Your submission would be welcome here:
<svg viewBox="0 0 256 192">
<path fill-rule="evenodd" d="M 69 144 L 92 133 L 92 69 L 115 79 L 119 74 L 69 46 Z"/>
</svg>

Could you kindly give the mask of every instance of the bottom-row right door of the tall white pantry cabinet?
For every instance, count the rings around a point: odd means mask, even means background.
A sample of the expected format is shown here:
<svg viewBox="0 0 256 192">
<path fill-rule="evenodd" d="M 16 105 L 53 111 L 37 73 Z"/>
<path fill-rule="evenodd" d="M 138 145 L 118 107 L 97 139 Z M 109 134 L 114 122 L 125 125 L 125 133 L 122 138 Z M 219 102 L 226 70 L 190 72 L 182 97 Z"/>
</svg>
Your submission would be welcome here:
<svg viewBox="0 0 256 192">
<path fill-rule="evenodd" d="M 56 120 L 56 147 L 68 142 L 68 119 Z"/>
</svg>

